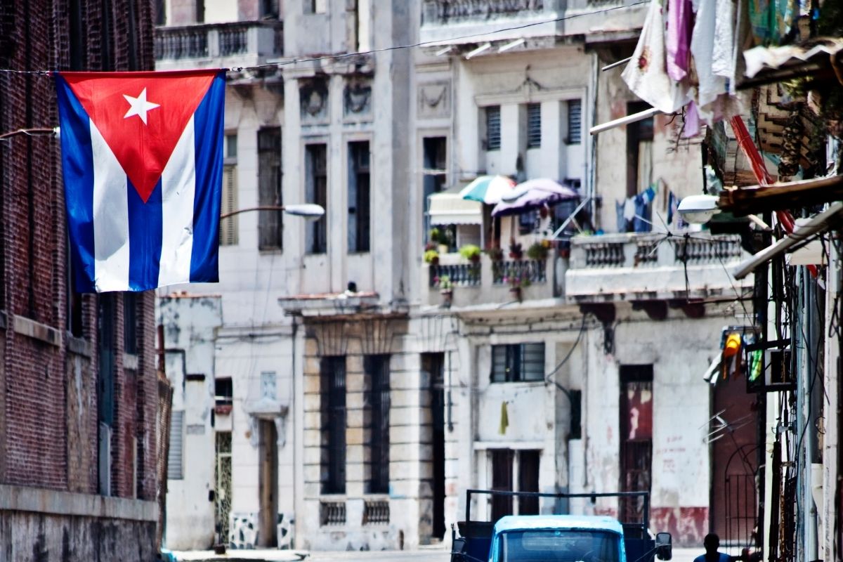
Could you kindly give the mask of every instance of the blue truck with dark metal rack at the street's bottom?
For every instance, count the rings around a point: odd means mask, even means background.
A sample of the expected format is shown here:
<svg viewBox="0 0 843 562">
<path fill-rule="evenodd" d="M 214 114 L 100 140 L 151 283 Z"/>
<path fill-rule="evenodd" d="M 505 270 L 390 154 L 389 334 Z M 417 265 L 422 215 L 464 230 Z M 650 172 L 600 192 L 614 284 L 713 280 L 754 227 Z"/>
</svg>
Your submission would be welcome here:
<svg viewBox="0 0 843 562">
<path fill-rule="evenodd" d="M 641 520 L 619 522 L 604 516 L 517 515 L 497 522 L 471 520 L 471 496 L 550 497 L 556 499 L 633 497 Z M 468 490 L 465 521 L 457 523 L 451 562 L 653 562 L 671 559 L 670 533 L 651 538 L 647 531 L 649 494 L 540 494 Z"/>
</svg>

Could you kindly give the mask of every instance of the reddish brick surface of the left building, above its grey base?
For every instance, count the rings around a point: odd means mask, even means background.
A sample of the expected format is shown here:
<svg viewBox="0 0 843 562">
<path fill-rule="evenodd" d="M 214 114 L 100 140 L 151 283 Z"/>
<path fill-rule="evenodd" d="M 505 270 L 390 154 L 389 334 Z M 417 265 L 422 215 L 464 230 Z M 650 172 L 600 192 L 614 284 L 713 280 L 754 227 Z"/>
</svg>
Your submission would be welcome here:
<svg viewBox="0 0 843 562">
<path fill-rule="evenodd" d="M 70 68 L 71 38 L 79 36 L 71 35 L 74 12 L 82 14 L 85 41 L 75 67 L 152 69 L 152 10 L 151 3 L 139 0 L 4 2 L 0 68 Z M 0 132 L 52 127 L 57 120 L 51 78 L 0 72 Z M 8 315 L 8 328 L 0 327 L 0 483 L 96 493 L 99 297 L 83 297 L 83 334 L 70 337 L 62 189 L 56 139 L 17 136 L 0 142 L 0 310 Z M 134 374 L 128 375 L 122 353 L 123 299 L 114 298 L 111 493 L 151 500 L 156 488 L 154 296 L 150 292 L 139 299 L 140 341 L 137 361 L 129 366 Z M 42 331 L 56 330 L 59 345 L 14 329 L 14 318 L 35 321 Z"/>
</svg>

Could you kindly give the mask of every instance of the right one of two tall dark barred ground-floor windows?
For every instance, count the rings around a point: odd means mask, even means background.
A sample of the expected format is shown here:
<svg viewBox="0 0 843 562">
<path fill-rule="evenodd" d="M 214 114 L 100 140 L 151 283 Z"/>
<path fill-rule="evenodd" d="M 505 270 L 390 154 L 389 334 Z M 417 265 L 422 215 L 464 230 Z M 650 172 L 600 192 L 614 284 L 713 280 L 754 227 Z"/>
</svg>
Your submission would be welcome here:
<svg viewBox="0 0 843 562">
<path fill-rule="evenodd" d="M 389 494 L 389 356 L 366 356 L 363 372 L 368 378 L 363 415 L 368 449 L 368 494 Z"/>
</svg>

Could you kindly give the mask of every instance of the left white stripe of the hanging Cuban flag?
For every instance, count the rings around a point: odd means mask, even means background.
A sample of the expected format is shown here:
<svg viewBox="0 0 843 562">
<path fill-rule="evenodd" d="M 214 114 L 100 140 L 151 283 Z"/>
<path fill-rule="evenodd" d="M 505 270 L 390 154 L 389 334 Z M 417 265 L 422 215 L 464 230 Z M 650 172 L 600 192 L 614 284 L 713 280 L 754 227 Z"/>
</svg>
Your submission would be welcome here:
<svg viewBox="0 0 843 562">
<path fill-rule="evenodd" d="M 91 120 L 94 155 L 94 286 L 98 292 L 129 288 L 128 179 Z"/>
</svg>

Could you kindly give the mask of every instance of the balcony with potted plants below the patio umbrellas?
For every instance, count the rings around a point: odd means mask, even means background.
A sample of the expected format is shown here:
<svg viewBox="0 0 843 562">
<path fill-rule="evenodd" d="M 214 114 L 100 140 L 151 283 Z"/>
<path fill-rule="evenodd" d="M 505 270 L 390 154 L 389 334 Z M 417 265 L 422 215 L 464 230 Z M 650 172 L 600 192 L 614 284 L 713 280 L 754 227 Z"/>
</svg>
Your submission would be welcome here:
<svg viewBox="0 0 843 562">
<path fill-rule="evenodd" d="M 483 254 L 472 263 L 459 254 L 443 254 L 436 265 L 421 268 L 422 306 L 447 306 L 441 281 L 451 282 L 450 306 L 454 308 L 499 306 L 505 302 L 552 299 L 562 296 L 566 261 L 551 250 L 546 260 L 491 260 Z M 512 279 L 522 280 L 520 295 L 511 291 Z"/>
</svg>

